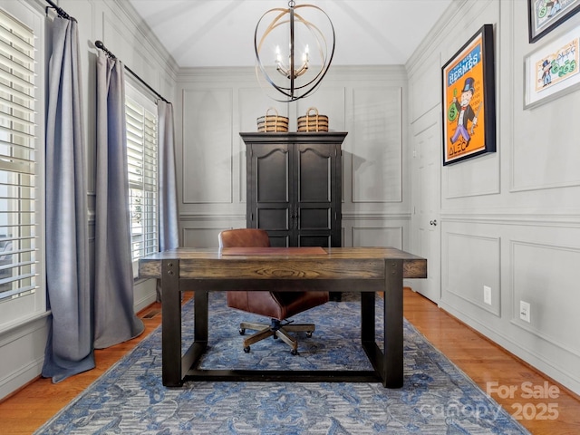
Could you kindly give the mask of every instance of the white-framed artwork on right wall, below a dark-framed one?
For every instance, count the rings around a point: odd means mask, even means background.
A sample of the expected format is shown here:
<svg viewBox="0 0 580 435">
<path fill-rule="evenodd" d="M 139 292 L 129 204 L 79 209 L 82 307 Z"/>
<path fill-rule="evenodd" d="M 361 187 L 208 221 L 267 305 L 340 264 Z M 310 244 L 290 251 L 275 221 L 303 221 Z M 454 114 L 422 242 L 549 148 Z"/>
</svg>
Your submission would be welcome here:
<svg viewBox="0 0 580 435">
<path fill-rule="evenodd" d="M 524 108 L 573 92 L 580 82 L 580 27 L 529 53 L 524 61 Z"/>
</svg>

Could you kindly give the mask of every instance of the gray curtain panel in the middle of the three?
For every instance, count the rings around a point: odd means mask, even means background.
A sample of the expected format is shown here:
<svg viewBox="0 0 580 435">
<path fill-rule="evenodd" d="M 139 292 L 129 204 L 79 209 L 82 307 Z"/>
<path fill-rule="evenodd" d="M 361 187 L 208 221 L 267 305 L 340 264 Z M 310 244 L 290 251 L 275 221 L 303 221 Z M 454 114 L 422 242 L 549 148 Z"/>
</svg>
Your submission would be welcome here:
<svg viewBox="0 0 580 435">
<path fill-rule="evenodd" d="M 144 330 L 133 313 L 133 272 L 124 68 L 97 58 L 94 347 L 130 340 Z"/>
</svg>

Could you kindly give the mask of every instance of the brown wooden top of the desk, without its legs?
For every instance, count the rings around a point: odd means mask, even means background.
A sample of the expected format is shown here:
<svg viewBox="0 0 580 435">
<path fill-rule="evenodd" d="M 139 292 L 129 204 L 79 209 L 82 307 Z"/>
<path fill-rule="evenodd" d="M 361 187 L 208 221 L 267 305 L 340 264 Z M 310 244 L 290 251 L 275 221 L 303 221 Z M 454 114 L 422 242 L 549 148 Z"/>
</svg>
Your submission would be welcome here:
<svg viewBox="0 0 580 435">
<path fill-rule="evenodd" d="M 179 260 L 179 277 L 236 279 L 260 275 L 288 275 L 324 279 L 347 271 L 366 277 L 384 276 L 385 260 L 402 260 L 405 278 L 427 277 L 427 260 L 394 247 L 328 247 L 325 255 L 304 248 L 304 254 L 287 248 L 263 248 L 247 255 L 224 255 L 219 248 L 180 247 L 139 260 L 142 278 L 160 278 L 163 260 Z M 259 272 L 258 272 L 259 271 Z M 348 274 L 346 274 L 348 275 Z"/>
</svg>

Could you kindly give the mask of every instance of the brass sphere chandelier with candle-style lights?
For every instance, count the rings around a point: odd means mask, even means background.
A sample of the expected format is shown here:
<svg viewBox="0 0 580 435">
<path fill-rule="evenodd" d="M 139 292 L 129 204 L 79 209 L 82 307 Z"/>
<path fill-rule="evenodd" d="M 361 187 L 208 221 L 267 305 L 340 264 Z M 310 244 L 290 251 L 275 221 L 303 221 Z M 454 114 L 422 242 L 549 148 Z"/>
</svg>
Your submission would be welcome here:
<svg viewBox="0 0 580 435">
<path fill-rule="evenodd" d="M 324 32 L 331 37 L 330 42 Z M 328 72 L 334 43 L 333 22 L 320 7 L 295 5 L 291 0 L 287 9 L 270 9 L 260 17 L 254 33 L 258 82 L 265 80 L 279 92 L 275 96 L 266 92 L 277 102 L 295 102 L 310 95 Z"/>
</svg>

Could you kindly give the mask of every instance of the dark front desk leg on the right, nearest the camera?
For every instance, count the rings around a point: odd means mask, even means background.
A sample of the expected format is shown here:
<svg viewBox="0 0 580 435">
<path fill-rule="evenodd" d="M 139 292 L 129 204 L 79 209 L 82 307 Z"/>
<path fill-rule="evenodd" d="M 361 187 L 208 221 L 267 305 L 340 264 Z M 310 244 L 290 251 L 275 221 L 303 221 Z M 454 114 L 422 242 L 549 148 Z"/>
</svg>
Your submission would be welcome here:
<svg viewBox="0 0 580 435">
<path fill-rule="evenodd" d="M 385 261 L 383 385 L 403 384 L 402 260 Z"/>
</svg>

